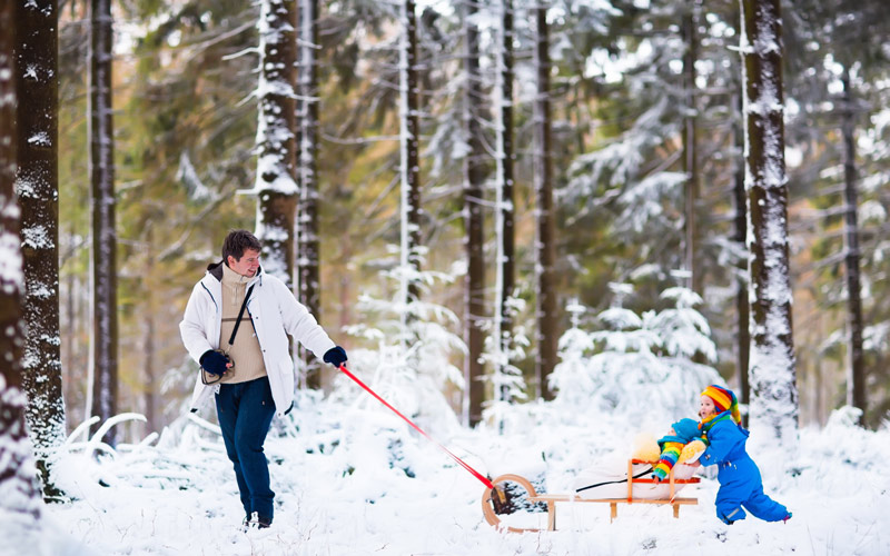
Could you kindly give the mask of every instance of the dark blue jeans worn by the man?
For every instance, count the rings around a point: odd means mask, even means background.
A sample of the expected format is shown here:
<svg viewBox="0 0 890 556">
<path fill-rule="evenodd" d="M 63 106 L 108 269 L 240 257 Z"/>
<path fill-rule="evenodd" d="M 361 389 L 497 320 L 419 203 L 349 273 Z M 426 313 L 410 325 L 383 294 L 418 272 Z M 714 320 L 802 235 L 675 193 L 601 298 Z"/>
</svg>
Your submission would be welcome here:
<svg viewBox="0 0 890 556">
<path fill-rule="evenodd" d="M 271 523 L 275 493 L 269 488 L 269 464 L 263 453 L 275 416 L 268 377 L 221 385 L 216 395 L 216 415 L 245 513 L 249 516 L 256 512 Z"/>
</svg>

